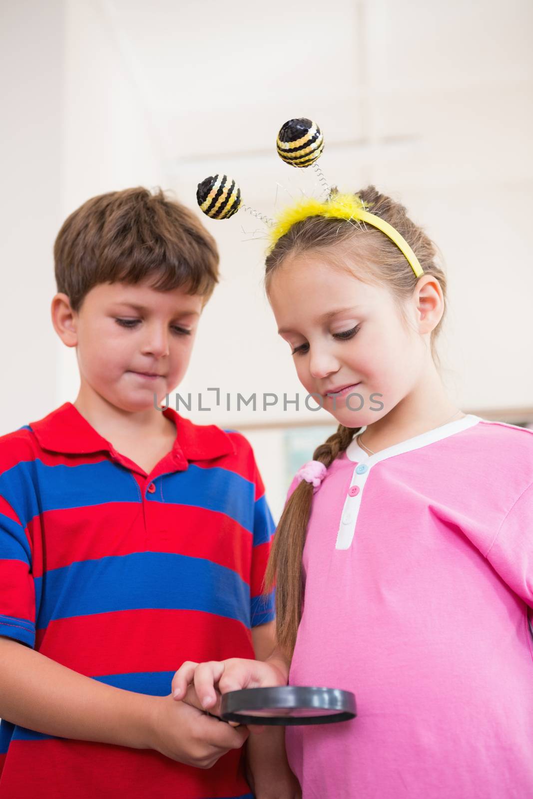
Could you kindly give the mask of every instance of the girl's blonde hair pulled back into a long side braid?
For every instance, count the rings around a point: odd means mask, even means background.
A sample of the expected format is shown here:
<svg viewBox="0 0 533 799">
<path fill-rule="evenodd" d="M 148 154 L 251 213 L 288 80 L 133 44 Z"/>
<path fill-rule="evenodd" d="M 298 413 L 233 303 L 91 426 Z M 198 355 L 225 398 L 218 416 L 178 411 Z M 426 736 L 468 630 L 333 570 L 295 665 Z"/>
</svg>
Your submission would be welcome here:
<svg viewBox="0 0 533 799">
<path fill-rule="evenodd" d="M 389 225 L 396 228 L 416 253 L 424 274 L 439 281 L 446 307 L 447 280 L 442 268 L 436 264 L 436 248 L 432 240 L 420 227 L 412 222 L 406 209 L 400 203 L 380 194 L 374 186 L 357 193 L 368 205 L 370 213 L 376 214 Z M 412 296 L 419 278 L 400 249 L 384 233 L 368 225 L 354 224 L 352 221 L 326 217 L 307 217 L 296 222 L 283 237 L 277 240 L 266 259 L 265 286 L 268 292 L 272 276 L 289 257 L 304 252 L 330 252 L 333 258 L 341 252 L 351 256 L 357 264 L 360 280 L 388 288 L 400 312 L 400 317 L 408 324 L 405 305 Z M 332 251 L 336 249 L 336 253 Z M 345 264 L 345 262 L 344 262 Z M 431 334 L 432 358 L 439 367 L 436 353 L 436 338 L 439 336 L 444 313 L 439 324 Z M 313 459 L 329 467 L 346 450 L 360 427 L 344 427 L 327 441 L 320 444 L 313 453 Z M 289 656 L 296 644 L 296 634 L 300 624 L 303 586 L 302 555 L 309 515 L 311 512 L 313 489 L 311 483 L 302 481 L 288 499 L 281 515 L 280 523 L 272 544 L 265 575 L 265 592 L 276 584 L 276 634 L 279 645 Z"/>
</svg>

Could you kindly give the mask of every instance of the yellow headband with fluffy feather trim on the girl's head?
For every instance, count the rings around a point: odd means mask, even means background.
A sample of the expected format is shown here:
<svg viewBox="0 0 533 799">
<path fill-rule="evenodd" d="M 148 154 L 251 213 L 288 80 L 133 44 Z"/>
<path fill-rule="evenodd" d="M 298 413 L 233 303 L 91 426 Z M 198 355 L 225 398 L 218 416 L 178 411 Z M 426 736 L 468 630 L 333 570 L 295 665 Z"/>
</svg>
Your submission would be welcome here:
<svg viewBox="0 0 533 799">
<path fill-rule="evenodd" d="M 320 202 L 314 197 L 309 197 L 307 200 L 302 200 L 296 205 L 285 209 L 277 217 L 276 225 L 269 231 L 270 249 L 274 247 L 276 241 L 280 239 L 285 233 L 295 225 L 307 217 L 333 217 L 335 219 L 346 219 L 348 221 L 355 219 L 360 222 L 368 222 L 368 225 L 377 228 L 390 240 L 394 241 L 404 256 L 407 258 L 409 264 L 415 272 L 416 277 L 424 274 L 423 268 L 420 266 L 418 258 L 412 251 L 407 241 L 400 233 L 385 222 L 380 217 L 376 217 L 373 213 L 368 213 L 365 209 L 364 202 L 360 197 L 355 197 L 353 194 L 333 194 L 332 197 L 325 202 Z"/>
</svg>

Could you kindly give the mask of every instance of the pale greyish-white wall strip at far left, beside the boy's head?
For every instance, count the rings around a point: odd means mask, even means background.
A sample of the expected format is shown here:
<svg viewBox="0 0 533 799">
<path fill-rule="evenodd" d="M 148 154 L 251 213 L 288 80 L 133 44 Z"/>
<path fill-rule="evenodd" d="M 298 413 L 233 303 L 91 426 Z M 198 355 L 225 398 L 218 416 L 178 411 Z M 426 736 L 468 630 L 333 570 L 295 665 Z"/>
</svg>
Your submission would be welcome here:
<svg viewBox="0 0 533 799">
<path fill-rule="evenodd" d="M 0 8 L 0 433 L 39 419 L 57 396 L 52 244 L 62 221 L 61 0 Z"/>
</svg>

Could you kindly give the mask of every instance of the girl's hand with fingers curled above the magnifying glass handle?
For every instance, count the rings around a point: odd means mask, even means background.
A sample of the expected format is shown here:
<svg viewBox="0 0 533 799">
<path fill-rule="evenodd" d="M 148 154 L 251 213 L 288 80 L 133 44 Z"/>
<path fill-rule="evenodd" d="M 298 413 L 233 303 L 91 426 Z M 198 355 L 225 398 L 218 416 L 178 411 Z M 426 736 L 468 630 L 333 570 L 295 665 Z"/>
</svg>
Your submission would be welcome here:
<svg viewBox="0 0 533 799">
<path fill-rule="evenodd" d="M 287 674 L 276 661 L 229 660 L 208 663 L 185 662 L 174 674 L 172 694 L 174 699 L 183 699 L 189 685 L 194 685 L 201 706 L 216 714 L 220 708 L 220 694 L 242 688 L 270 688 L 287 685 Z"/>
</svg>

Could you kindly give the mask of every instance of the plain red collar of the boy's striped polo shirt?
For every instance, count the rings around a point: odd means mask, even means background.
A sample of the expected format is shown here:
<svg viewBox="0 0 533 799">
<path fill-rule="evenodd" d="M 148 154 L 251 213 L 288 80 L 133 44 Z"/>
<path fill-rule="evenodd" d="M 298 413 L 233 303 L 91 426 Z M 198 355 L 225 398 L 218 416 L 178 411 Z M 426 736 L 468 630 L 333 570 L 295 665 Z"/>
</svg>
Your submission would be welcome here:
<svg viewBox="0 0 533 799">
<path fill-rule="evenodd" d="M 184 456 L 188 461 L 210 460 L 235 452 L 232 440 L 220 427 L 193 424 L 172 407 L 165 408 L 162 413 L 176 425 L 177 436 L 171 454 L 178 460 L 182 461 Z M 117 454 L 113 444 L 100 435 L 70 402 L 44 419 L 31 422 L 30 427 L 42 449 L 72 455 L 101 451 Z"/>
</svg>

